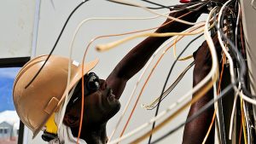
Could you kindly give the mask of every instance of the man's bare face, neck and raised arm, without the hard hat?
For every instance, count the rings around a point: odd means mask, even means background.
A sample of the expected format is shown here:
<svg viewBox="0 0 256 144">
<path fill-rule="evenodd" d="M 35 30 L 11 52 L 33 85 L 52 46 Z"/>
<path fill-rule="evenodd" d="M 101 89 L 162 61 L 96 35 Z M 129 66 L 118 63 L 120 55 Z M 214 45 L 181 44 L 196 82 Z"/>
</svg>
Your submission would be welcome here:
<svg viewBox="0 0 256 144">
<path fill-rule="evenodd" d="M 187 11 L 177 12 L 171 16 L 178 17 Z M 183 17 L 183 20 L 195 22 L 201 12 L 193 12 Z M 164 23 L 170 20 L 166 20 Z M 189 26 L 172 22 L 167 26 L 160 27 L 156 32 L 182 32 Z M 115 66 L 106 80 L 100 80 L 100 89 L 84 96 L 84 118 L 80 138 L 87 143 L 99 144 L 108 141 L 106 124 L 108 120 L 119 111 L 119 98 L 122 95 L 127 81 L 139 72 L 147 63 L 154 51 L 170 37 L 148 37 L 142 43 L 125 55 Z M 134 65 L 136 64 L 136 65 Z M 81 93 L 79 93 L 81 95 Z M 110 98 L 114 95 L 114 99 Z M 76 105 L 69 107 L 63 123 L 69 126 L 73 136 L 77 137 L 79 132 L 79 117 L 81 100 Z"/>
</svg>

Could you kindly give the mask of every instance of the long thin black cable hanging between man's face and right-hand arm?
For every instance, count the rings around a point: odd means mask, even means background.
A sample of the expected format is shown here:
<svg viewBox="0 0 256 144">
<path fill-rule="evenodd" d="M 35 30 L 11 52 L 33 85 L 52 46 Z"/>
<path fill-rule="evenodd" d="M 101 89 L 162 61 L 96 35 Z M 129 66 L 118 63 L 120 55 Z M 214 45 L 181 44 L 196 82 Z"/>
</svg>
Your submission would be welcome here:
<svg viewBox="0 0 256 144">
<path fill-rule="evenodd" d="M 168 82 L 168 80 L 169 80 L 169 78 L 170 78 L 170 75 L 171 75 L 171 73 L 172 73 L 173 67 L 174 67 L 175 64 L 177 63 L 177 60 L 181 57 L 181 55 L 183 55 L 183 53 L 185 52 L 185 50 L 189 48 L 189 45 L 190 45 L 191 43 L 195 42 L 195 40 L 197 40 L 197 39 L 198 39 L 199 37 L 201 37 L 202 35 L 203 35 L 203 34 L 201 34 L 201 35 L 195 37 L 193 40 L 191 40 L 191 41 L 187 44 L 187 46 L 182 50 L 182 52 L 177 56 L 177 59 L 174 60 L 172 66 L 171 66 L 171 69 L 170 69 L 170 71 L 169 71 L 169 73 L 168 73 L 168 75 L 167 75 L 166 82 L 165 82 L 165 84 L 164 84 L 164 86 L 163 86 L 163 89 L 162 89 L 162 92 L 161 92 L 161 95 L 160 95 L 160 99 L 162 99 L 162 95 L 164 94 L 165 89 L 166 89 L 166 84 L 167 84 L 167 82 Z M 157 104 L 157 108 L 156 108 L 154 117 L 157 116 L 158 111 L 159 111 L 159 107 L 160 107 L 160 101 L 159 101 L 158 104 Z M 153 125 L 152 125 L 152 130 L 154 130 L 154 125 L 155 125 L 155 122 L 154 122 Z M 149 136 L 148 143 L 150 143 L 151 139 L 152 139 L 152 135 Z"/>
</svg>

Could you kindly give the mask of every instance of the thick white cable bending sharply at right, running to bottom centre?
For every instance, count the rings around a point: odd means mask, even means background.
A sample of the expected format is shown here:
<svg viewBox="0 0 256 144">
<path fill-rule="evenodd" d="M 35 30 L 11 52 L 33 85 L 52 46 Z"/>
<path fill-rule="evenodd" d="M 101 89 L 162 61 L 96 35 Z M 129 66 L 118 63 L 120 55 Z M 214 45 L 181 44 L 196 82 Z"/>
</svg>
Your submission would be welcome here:
<svg viewBox="0 0 256 144">
<path fill-rule="evenodd" d="M 210 17 L 212 16 L 212 13 L 216 10 L 216 8 L 213 8 L 209 14 L 209 17 L 207 18 L 206 21 L 206 25 L 204 28 L 204 33 L 205 36 L 207 38 L 207 43 L 209 45 L 209 49 L 211 51 L 211 55 L 212 55 L 212 69 L 211 71 L 207 74 L 206 78 L 202 79 L 201 82 L 197 85 L 195 85 L 195 87 L 193 89 L 190 89 L 188 93 L 186 93 L 185 95 L 183 95 L 177 102 L 173 103 L 171 106 L 169 106 L 165 111 L 160 112 L 160 114 L 157 117 L 151 118 L 150 121 L 148 123 L 142 124 L 140 127 L 138 127 L 136 130 L 132 130 L 131 132 L 129 132 L 126 135 L 123 135 L 122 137 L 119 137 L 118 139 L 114 140 L 114 141 L 110 141 L 109 144 L 113 144 L 113 143 L 117 143 L 119 141 L 123 141 L 129 137 L 131 137 L 131 135 L 135 135 L 137 134 L 139 131 L 147 128 L 149 125 L 153 124 L 154 121 L 166 116 L 166 114 L 168 112 L 170 112 L 173 108 L 177 107 L 178 104 L 180 104 L 181 102 L 185 101 L 186 99 L 189 99 L 190 95 L 194 94 L 197 90 L 201 89 L 205 84 L 207 84 L 208 81 L 211 81 L 211 78 L 216 78 L 218 76 L 218 60 L 217 60 L 217 54 L 214 48 L 214 44 L 211 40 L 211 36 L 208 33 L 208 23 L 210 20 Z"/>
</svg>

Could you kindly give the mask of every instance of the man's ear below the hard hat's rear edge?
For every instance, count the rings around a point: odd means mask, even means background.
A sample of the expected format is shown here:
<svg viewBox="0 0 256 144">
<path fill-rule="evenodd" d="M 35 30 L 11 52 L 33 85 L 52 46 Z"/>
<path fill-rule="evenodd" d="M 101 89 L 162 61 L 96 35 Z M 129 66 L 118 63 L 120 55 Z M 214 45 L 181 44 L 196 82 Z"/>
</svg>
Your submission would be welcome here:
<svg viewBox="0 0 256 144">
<path fill-rule="evenodd" d="M 79 118 L 78 112 L 72 109 L 71 110 L 67 109 L 63 119 L 63 123 L 71 128 L 78 127 L 79 119 L 80 118 Z"/>
</svg>

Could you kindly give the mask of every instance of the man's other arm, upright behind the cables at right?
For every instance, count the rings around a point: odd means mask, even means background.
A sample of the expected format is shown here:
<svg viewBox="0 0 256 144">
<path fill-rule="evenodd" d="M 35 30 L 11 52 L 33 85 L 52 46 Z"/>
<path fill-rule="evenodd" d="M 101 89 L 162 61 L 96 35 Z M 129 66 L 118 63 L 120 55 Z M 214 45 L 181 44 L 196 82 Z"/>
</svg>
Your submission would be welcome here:
<svg viewBox="0 0 256 144">
<path fill-rule="evenodd" d="M 217 35 L 213 37 L 213 42 L 214 45 L 218 45 Z M 195 51 L 193 57 L 195 60 L 195 67 L 193 72 L 193 86 L 195 86 L 207 76 L 212 68 L 212 56 L 206 41 L 202 43 L 201 47 Z M 194 96 L 195 95 L 193 95 L 193 97 Z M 191 117 L 195 112 L 201 109 L 201 107 L 205 106 L 208 101 L 212 100 L 212 98 L 213 89 L 210 89 L 205 95 L 201 97 L 201 99 L 191 105 L 188 117 Z M 202 143 L 202 141 L 204 141 L 207 130 L 212 122 L 213 112 L 214 107 L 211 107 L 206 112 L 203 112 L 199 117 L 195 118 L 195 120 L 185 125 L 183 132 L 183 144 Z M 206 143 L 214 144 L 214 124 L 212 125 L 212 129 Z"/>
</svg>

